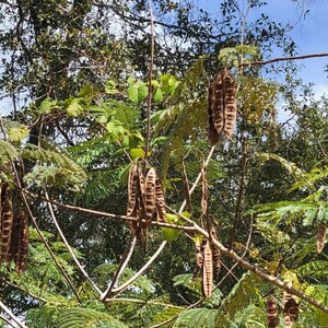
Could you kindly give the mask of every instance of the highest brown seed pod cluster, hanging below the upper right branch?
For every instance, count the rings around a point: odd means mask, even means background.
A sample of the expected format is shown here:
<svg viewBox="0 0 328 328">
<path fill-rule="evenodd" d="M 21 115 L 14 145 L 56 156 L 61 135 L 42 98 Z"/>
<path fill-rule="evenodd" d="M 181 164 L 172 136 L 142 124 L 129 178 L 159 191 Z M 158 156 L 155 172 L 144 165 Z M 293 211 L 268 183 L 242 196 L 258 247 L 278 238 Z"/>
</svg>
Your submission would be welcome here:
<svg viewBox="0 0 328 328">
<path fill-rule="evenodd" d="M 215 144 L 221 133 L 230 138 L 237 117 L 236 86 L 231 72 L 221 70 L 209 86 L 208 138 Z"/>
</svg>

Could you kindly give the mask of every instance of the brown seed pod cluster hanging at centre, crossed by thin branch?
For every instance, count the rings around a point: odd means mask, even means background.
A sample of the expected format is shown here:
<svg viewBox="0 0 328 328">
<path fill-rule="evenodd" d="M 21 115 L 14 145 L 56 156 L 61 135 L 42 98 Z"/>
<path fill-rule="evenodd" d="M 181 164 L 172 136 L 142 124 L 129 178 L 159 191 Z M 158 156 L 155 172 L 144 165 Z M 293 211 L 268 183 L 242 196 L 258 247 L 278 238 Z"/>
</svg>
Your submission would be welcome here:
<svg viewBox="0 0 328 328">
<path fill-rule="evenodd" d="M 157 220 L 166 222 L 165 199 L 156 172 L 151 167 L 145 176 L 137 162 L 130 166 L 128 178 L 128 208 L 127 215 L 140 219 L 133 221 L 130 227 L 140 241 L 148 224 L 153 220 L 154 213 Z M 142 222 L 141 220 L 145 220 Z"/>
</svg>

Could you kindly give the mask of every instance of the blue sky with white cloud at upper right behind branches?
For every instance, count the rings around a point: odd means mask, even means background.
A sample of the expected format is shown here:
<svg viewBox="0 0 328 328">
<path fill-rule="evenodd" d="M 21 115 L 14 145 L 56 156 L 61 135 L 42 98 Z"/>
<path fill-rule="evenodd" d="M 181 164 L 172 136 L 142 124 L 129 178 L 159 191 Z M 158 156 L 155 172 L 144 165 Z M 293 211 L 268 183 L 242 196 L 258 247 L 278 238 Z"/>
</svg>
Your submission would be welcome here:
<svg viewBox="0 0 328 328">
<path fill-rule="evenodd" d="M 243 4 L 243 0 L 236 1 Z M 297 45 L 298 55 L 328 52 L 328 1 L 327 0 L 298 0 L 293 3 L 291 0 L 267 0 L 268 5 L 260 9 L 251 9 L 248 17 L 259 16 L 265 11 L 272 21 L 281 23 L 291 23 L 295 25 L 289 33 Z M 206 7 L 209 12 L 218 12 L 220 0 L 200 0 L 199 7 Z M 247 4 L 247 1 L 244 0 Z M 303 4 L 303 5 L 301 5 Z M 303 10 L 309 10 L 305 20 L 300 20 L 304 14 Z M 280 57 L 281 54 L 277 54 Z M 297 61 L 302 63 L 301 77 L 305 82 L 315 84 L 314 91 L 317 96 L 324 92 L 328 95 L 328 79 L 324 72 L 325 65 L 328 63 L 328 57 L 314 58 Z"/>
</svg>

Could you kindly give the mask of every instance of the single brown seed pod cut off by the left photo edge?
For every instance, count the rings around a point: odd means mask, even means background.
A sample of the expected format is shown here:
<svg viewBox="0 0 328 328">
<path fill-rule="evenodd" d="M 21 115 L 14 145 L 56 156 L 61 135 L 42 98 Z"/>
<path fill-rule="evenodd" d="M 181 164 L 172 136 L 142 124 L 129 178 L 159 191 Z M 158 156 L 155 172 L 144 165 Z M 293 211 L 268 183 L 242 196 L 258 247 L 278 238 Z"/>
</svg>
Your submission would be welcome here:
<svg viewBox="0 0 328 328">
<path fill-rule="evenodd" d="M 13 209 L 11 201 L 11 190 L 8 184 L 3 184 L 1 188 L 1 261 L 8 261 L 10 251 L 10 242 L 13 225 Z"/>
</svg>

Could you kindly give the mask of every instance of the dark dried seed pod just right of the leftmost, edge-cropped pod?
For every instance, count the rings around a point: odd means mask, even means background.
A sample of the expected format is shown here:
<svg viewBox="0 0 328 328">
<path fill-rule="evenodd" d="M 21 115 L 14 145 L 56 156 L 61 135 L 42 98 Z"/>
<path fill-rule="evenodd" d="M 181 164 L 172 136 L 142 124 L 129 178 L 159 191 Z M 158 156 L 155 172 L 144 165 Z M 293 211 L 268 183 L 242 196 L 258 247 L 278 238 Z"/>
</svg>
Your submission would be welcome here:
<svg viewBox="0 0 328 328">
<path fill-rule="evenodd" d="M 17 273 L 21 274 L 26 270 L 28 255 L 28 220 L 24 211 L 20 211 L 16 221 L 17 224 L 15 224 L 15 229 L 17 232 L 14 234 L 17 235 L 17 239 L 13 238 L 12 243 L 17 243 L 14 262 Z"/>
</svg>

